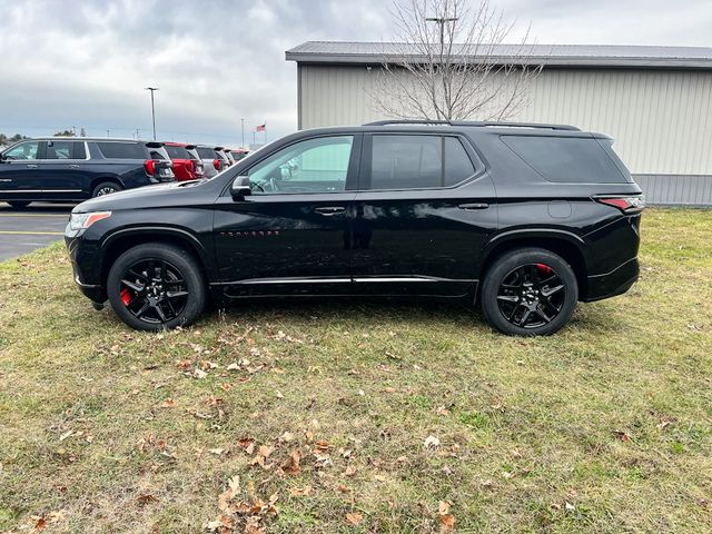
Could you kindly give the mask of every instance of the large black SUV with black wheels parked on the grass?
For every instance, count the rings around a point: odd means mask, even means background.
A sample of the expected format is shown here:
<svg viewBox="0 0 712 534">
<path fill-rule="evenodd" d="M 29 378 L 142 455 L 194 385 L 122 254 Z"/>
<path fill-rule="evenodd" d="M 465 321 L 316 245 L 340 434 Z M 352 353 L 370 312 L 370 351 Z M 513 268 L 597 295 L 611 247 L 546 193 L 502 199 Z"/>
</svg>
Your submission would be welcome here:
<svg viewBox="0 0 712 534">
<path fill-rule="evenodd" d="M 190 324 L 208 295 L 368 295 L 552 334 L 639 276 L 641 189 L 612 144 L 550 125 L 300 131 L 210 180 L 83 202 L 66 241 L 83 294 L 139 329 Z"/>
</svg>

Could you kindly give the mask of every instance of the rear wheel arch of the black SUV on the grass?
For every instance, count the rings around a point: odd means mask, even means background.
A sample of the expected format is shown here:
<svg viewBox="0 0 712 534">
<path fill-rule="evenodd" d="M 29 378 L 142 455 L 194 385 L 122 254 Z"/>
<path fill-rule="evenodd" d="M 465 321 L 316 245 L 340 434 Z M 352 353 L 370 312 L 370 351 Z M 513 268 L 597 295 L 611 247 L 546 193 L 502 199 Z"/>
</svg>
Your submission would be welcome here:
<svg viewBox="0 0 712 534">
<path fill-rule="evenodd" d="M 520 248 L 543 248 L 557 254 L 571 265 L 578 284 L 578 299 L 586 297 L 589 260 L 584 253 L 585 241 L 565 230 L 526 230 L 502 234 L 485 247 L 482 267 L 479 269 L 481 284 L 478 284 L 476 299 L 479 300 L 482 281 L 487 276 L 487 271 L 501 256 Z"/>
</svg>

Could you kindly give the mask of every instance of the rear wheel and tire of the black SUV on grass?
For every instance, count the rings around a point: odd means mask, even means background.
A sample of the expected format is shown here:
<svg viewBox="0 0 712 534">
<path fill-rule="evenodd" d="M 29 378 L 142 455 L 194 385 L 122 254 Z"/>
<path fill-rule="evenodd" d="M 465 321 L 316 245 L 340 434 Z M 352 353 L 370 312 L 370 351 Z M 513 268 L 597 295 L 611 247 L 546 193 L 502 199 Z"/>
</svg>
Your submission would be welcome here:
<svg viewBox="0 0 712 534">
<path fill-rule="evenodd" d="M 543 248 L 521 248 L 495 260 L 481 295 L 482 310 L 497 330 L 510 336 L 547 336 L 571 319 L 578 284 L 561 256 Z"/>
</svg>

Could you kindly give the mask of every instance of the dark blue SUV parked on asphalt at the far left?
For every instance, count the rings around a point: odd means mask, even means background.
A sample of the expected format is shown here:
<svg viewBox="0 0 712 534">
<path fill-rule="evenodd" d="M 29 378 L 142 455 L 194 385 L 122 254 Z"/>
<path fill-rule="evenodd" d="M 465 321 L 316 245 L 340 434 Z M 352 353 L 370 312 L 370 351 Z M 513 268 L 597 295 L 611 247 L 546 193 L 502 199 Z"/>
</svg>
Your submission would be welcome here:
<svg viewBox="0 0 712 534">
<path fill-rule="evenodd" d="M 77 201 L 174 181 L 162 144 L 131 139 L 26 139 L 0 154 L 0 201 Z"/>
</svg>

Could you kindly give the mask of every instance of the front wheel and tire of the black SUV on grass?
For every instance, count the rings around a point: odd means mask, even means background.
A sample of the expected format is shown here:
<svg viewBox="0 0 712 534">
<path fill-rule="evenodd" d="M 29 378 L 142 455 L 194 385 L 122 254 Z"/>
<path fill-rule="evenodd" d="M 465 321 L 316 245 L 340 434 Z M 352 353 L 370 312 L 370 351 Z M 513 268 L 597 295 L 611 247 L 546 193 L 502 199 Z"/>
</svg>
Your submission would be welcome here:
<svg viewBox="0 0 712 534">
<path fill-rule="evenodd" d="M 191 254 L 150 243 L 119 256 L 109 270 L 107 294 L 123 323 L 156 332 L 192 324 L 205 309 L 207 291 Z"/>
</svg>

